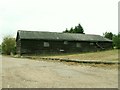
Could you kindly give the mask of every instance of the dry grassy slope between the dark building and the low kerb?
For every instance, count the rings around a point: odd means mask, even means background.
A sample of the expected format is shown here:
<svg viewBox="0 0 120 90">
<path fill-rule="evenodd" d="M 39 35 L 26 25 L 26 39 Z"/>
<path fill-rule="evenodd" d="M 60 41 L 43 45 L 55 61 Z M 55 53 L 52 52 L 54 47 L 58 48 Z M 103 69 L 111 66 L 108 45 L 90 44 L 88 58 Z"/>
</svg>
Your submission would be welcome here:
<svg viewBox="0 0 120 90">
<path fill-rule="evenodd" d="M 77 53 L 77 54 L 50 54 L 50 55 L 40 55 L 37 57 L 48 57 L 48 58 L 65 58 L 65 59 L 79 59 L 79 60 L 118 60 L 118 50 L 107 50 L 98 52 L 88 52 L 88 53 Z"/>
</svg>

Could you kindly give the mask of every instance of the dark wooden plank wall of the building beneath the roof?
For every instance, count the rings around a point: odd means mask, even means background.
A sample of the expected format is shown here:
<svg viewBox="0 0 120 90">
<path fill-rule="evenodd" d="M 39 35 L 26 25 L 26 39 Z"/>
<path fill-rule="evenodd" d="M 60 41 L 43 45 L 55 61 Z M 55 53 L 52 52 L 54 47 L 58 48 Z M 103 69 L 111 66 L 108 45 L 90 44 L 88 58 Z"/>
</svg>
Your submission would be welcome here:
<svg viewBox="0 0 120 90">
<path fill-rule="evenodd" d="M 44 42 L 49 42 L 49 47 L 44 47 Z M 77 43 L 80 44 L 79 47 L 76 47 Z M 109 42 L 68 41 L 68 44 L 64 44 L 64 41 L 17 40 L 18 54 L 74 53 L 98 51 L 110 48 L 112 48 L 112 43 Z"/>
</svg>

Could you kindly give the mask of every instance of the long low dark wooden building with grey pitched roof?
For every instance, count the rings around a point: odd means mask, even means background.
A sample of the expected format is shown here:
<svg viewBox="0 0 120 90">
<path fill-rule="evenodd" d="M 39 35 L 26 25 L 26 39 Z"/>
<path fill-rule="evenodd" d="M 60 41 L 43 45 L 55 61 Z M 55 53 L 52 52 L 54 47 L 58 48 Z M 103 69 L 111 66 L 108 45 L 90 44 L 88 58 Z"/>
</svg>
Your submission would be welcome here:
<svg viewBox="0 0 120 90">
<path fill-rule="evenodd" d="M 100 35 L 18 30 L 17 54 L 76 53 L 112 48 L 112 41 Z"/>
</svg>

